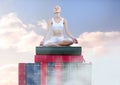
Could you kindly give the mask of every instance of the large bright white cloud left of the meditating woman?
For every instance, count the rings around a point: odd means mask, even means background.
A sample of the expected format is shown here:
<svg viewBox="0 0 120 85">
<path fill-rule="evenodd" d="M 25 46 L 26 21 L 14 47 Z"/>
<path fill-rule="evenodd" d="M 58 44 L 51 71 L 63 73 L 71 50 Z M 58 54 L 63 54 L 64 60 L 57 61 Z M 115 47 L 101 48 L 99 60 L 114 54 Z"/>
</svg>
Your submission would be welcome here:
<svg viewBox="0 0 120 85">
<path fill-rule="evenodd" d="M 32 28 L 28 31 L 27 29 Z M 0 17 L 0 49 L 15 48 L 19 52 L 32 52 L 42 36 L 34 32 L 35 25 L 24 24 L 15 13 Z"/>
</svg>

